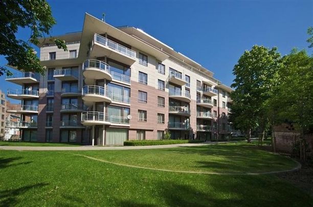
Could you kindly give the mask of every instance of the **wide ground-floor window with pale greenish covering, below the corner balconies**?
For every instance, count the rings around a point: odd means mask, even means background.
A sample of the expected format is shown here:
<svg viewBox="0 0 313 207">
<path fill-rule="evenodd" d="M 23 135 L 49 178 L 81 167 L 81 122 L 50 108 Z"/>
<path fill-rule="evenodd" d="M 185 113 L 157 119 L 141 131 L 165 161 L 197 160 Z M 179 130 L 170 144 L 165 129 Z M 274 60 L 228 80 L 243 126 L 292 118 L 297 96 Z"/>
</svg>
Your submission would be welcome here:
<svg viewBox="0 0 313 207">
<path fill-rule="evenodd" d="M 128 139 L 128 129 L 106 129 L 105 145 L 123 145 Z"/>
</svg>

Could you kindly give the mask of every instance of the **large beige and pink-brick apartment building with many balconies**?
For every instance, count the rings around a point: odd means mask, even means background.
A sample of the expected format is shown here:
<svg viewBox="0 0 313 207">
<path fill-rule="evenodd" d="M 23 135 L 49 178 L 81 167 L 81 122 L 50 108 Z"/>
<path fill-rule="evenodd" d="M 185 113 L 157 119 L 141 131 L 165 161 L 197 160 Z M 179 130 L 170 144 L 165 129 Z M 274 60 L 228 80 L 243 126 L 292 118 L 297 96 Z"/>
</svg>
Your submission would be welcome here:
<svg viewBox="0 0 313 207">
<path fill-rule="evenodd" d="M 229 135 L 232 89 L 206 68 L 133 27 L 85 14 L 82 32 L 41 40 L 44 76 L 17 73 L 21 138 L 122 145 L 125 140 L 222 139 Z M 40 121 L 39 121 L 40 120 Z"/>
</svg>

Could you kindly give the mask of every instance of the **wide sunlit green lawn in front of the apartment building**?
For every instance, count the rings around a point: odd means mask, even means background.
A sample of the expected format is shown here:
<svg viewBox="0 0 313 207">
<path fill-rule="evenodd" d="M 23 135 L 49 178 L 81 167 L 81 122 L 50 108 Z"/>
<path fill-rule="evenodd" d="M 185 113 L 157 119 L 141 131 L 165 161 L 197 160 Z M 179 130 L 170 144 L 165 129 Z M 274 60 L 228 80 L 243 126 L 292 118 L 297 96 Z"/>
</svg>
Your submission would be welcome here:
<svg viewBox="0 0 313 207">
<path fill-rule="evenodd" d="M 313 203 L 307 194 L 275 175 L 162 172 L 102 163 L 73 153 L 119 163 L 128 160 L 131 164 L 151 166 L 150 162 L 157 162 L 154 167 L 215 172 L 277 170 L 295 165 L 287 158 L 244 144 L 115 151 L 1 150 L 0 206 L 311 206 Z M 168 164 L 170 159 L 176 161 Z M 214 159 L 213 166 L 208 163 L 210 159 Z M 234 159 L 233 164 L 230 159 Z M 255 169 L 258 163 L 262 167 Z M 242 164 L 247 166 L 238 166 Z"/>
</svg>

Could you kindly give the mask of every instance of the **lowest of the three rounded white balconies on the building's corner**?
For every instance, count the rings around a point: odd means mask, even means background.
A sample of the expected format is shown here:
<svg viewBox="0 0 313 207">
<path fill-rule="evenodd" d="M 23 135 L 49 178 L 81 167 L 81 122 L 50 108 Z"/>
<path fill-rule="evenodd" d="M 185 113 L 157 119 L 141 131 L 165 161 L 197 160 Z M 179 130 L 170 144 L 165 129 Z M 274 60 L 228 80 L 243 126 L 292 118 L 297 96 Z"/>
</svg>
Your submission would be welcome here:
<svg viewBox="0 0 313 207">
<path fill-rule="evenodd" d="M 85 111 L 81 113 L 81 124 L 84 126 L 110 125 L 108 115 L 100 111 Z"/>
</svg>

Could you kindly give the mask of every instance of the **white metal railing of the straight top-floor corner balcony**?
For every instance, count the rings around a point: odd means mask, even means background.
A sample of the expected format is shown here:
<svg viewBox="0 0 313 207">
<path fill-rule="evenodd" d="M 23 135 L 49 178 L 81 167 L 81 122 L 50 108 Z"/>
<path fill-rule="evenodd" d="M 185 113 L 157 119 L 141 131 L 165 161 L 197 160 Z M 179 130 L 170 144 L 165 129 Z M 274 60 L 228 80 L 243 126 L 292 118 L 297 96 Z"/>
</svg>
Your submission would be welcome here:
<svg viewBox="0 0 313 207">
<path fill-rule="evenodd" d="M 119 43 L 116 43 L 116 42 L 109 40 L 105 37 L 102 37 L 101 35 L 98 35 L 98 34 L 95 34 L 94 39 L 95 39 L 95 42 L 103 44 L 103 45 L 109 47 L 110 49 L 113 49 L 113 50 L 120 52 L 124 55 L 127 55 L 131 58 L 136 58 L 136 52 L 135 51 L 130 50 L 130 49 L 124 47 L 123 45 L 119 44 Z"/>
</svg>

